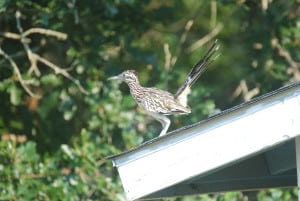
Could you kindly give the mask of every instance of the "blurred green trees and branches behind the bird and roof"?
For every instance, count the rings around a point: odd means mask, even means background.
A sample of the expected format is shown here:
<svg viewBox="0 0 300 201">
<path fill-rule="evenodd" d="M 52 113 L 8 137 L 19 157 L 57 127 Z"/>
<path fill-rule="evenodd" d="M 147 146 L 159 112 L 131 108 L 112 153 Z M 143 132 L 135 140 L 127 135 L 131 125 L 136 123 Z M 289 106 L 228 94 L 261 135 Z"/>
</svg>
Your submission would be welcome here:
<svg viewBox="0 0 300 201">
<path fill-rule="evenodd" d="M 299 81 L 300 1 L 0 0 L 0 200 L 124 200 L 104 158 L 161 126 L 107 78 L 135 69 L 176 92 L 216 38 L 193 112 L 169 131 Z M 297 189 L 168 200 L 297 200 Z"/>
</svg>

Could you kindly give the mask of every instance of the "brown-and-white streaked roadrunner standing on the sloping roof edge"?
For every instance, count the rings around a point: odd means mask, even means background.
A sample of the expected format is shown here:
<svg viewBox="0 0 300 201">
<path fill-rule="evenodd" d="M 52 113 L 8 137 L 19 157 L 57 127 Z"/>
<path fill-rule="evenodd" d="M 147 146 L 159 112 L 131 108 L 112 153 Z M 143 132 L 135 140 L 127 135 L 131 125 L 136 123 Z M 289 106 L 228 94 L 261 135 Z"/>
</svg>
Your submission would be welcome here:
<svg viewBox="0 0 300 201">
<path fill-rule="evenodd" d="M 171 123 L 165 115 L 188 114 L 191 112 L 190 107 L 187 105 L 187 96 L 191 91 L 191 86 L 205 71 L 206 67 L 215 60 L 216 56 L 214 54 L 218 48 L 216 40 L 207 53 L 194 65 L 184 84 L 174 95 L 161 89 L 141 86 L 135 70 L 126 70 L 117 76 L 110 77 L 109 80 L 121 80 L 127 83 L 137 104 L 162 124 L 163 129 L 159 134 L 159 136 L 162 136 L 167 133 Z"/>
</svg>

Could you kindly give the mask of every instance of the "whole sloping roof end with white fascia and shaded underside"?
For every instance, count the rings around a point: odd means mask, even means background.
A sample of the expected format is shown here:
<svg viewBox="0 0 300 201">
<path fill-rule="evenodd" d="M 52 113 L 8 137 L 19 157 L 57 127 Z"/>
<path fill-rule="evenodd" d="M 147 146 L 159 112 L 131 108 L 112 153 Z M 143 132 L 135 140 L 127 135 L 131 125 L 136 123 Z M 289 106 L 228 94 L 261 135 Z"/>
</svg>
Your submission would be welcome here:
<svg viewBox="0 0 300 201">
<path fill-rule="evenodd" d="M 108 159 L 128 200 L 293 186 L 299 134 L 294 83 Z"/>
</svg>

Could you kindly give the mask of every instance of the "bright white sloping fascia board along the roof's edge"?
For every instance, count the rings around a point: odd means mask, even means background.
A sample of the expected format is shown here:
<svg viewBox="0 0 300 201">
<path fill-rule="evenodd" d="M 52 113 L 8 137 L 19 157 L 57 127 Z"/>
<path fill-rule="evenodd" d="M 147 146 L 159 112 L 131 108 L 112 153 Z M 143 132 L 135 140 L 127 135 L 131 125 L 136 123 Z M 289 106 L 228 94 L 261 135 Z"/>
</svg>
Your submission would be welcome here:
<svg viewBox="0 0 300 201">
<path fill-rule="evenodd" d="M 296 83 L 110 159 L 127 199 L 136 200 L 217 171 L 299 134 L 300 84 Z M 299 169 L 299 154 L 297 159 Z"/>
</svg>

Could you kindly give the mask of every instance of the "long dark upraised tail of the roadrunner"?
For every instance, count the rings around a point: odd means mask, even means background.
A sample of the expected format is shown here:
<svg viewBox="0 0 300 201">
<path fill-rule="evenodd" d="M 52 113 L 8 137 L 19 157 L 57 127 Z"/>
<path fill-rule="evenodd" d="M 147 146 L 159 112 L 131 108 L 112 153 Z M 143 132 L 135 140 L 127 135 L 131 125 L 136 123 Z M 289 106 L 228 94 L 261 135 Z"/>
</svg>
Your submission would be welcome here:
<svg viewBox="0 0 300 201">
<path fill-rule="evenodd" d="M 206 54 L 193 66 L 187 78 L 185 79 L 184 84 L 178 89 L 175 98 L 183 106 L 187 107 L 187 96 L 190 93 L 191 86 L 197 81 L 200 75 L 206 70 L 217 56 L 214 56 L 217 50 L 219 49 L 218 41 L 212 44 Z"/>
</svg>

